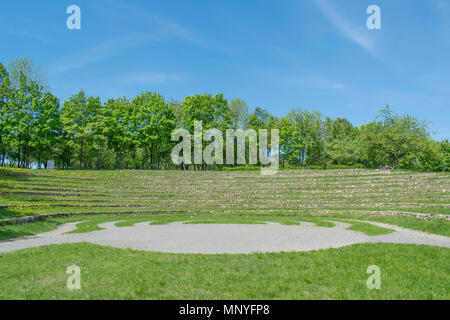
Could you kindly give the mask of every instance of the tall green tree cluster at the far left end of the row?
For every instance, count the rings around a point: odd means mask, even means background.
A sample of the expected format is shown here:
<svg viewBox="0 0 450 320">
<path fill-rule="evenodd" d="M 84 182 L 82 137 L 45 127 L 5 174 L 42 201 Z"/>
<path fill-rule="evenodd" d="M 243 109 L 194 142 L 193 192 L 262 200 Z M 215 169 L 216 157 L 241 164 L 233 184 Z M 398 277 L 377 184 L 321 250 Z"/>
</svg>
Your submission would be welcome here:
<svg viewBox="0 0 450 320">
<path fill-rule="evenodd" d="M 43 78 L 28 60 L 13 61 L 9 68 L 10 73 L 0 67 L 2 164 L 8 156 L 19 167 L 45 165 L 60 135 L 59 101 L 44 93 Z"/>
</svg>

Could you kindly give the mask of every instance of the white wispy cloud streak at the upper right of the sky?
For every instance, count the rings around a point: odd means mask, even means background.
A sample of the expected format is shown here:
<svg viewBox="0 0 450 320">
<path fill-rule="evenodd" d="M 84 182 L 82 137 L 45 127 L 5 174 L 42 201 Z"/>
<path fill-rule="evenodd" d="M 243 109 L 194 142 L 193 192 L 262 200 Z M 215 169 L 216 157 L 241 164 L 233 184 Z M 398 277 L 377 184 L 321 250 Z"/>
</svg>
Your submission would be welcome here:
<svg viewBox="0 0 450 320">
<path fill-rule="evenodd" d="M 362 47 L 371 55 L 375 56 L 374 43 L 365 31 L 366 25 L 356 26 L 350 23 L 344 16 L 342 16 L 335 8 L 333 8 L 327 0 L 316 0 L 317 5 L 322 12 L 333 22 L 333 24 L 341 31 L 348 39 Z"/>
</svg>

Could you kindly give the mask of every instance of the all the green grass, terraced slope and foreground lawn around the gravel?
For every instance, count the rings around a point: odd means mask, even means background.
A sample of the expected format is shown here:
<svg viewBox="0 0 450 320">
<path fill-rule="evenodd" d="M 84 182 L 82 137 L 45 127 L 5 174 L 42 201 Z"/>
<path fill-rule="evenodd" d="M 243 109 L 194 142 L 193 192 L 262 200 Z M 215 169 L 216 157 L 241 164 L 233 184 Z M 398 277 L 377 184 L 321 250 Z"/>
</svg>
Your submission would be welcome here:
<svg viewBox="0 0 450 320">
<path fill-rule="evenodd" d="M 113 186 L 113 187 L 111 187 Z M 363 220 L 450 236 L 450 175 L 370 170 L 258 172 L 36 171 L 0 168 L 0 219 L 66 213 L 29 224 L 0 222 L 0 240 L 83 221 L 72 232 L 153 221 L 314 223 L 381 235 Z M 419 219 L 425 215 L 426 219 Z M 440 217 L 437 217 L 440 215 Z M 353 221 L 358 220 L 358 221 Z M 82 289 L 68 290 L 68 266 Z M 367 267 L 381 269 L 369 290 Z M 447 248 L 358 244 L 311 252 L 168 254 L 90 243 L 0 254 L 3 299 L 449 299 Z"/>
</svg>

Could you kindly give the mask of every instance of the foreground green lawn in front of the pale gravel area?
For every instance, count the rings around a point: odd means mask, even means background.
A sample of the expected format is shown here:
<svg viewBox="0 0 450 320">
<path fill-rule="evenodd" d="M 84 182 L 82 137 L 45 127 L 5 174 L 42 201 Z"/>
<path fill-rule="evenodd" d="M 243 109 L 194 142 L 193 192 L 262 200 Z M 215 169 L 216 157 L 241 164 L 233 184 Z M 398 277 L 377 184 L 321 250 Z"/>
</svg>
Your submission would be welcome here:
<svg viewBox="0 0 450 320">
<path fill-rule="evenodd" d="M 250 255 L 164 254 L 51 245 L 0 255 L 2 299 L 449 299 L 448 249 L 359 244 Z M 68 290 L 68 266 L 81 268 Z M 366 287 L 367 267 L 381 289 Z"/>
</svg>

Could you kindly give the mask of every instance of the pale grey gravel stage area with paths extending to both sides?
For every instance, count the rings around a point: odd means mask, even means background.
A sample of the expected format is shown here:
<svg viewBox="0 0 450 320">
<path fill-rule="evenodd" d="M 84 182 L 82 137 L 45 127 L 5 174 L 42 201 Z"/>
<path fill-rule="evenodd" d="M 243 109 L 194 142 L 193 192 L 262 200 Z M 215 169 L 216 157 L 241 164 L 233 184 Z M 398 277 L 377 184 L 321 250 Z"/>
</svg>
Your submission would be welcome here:
<svg viewBox="0 0 450 320">
<path fill-rule="evenodd" d="M 0 253 L 50 244 L 91 242 L 116 248 L 172 253 L 254 253 L 310 251 L 340 248 L 356 243 L 405 243 L 450 248 L 450 238 L 409 230 L 384 223 L 365 221 L 395 232 L 368 236 L 346 230 L 350 225 L 333 221 L 334 228 L 317 227 L 312 223 L 281 225 L 265 224 L 185 224 L 151 225 L 150 221 L 132 227 L 116 227 L 115 222 L 100 224 L 103 230 L 89 233 L 67 233 L 76 228 L 67 223 L 58 229 L 35 236 L 0 242 Z"/>
</svg>

